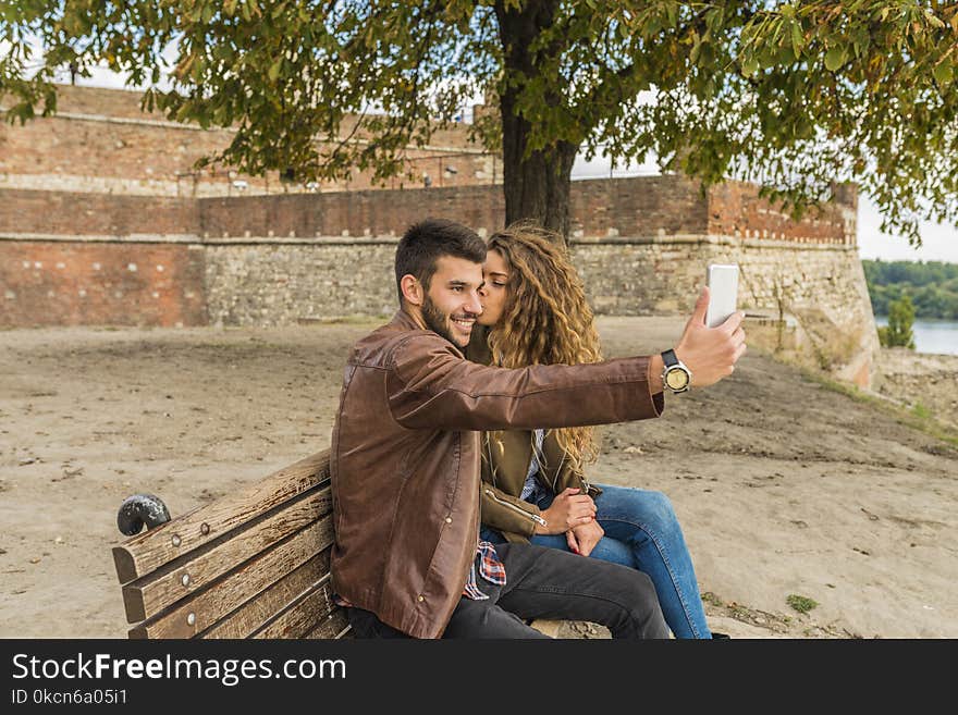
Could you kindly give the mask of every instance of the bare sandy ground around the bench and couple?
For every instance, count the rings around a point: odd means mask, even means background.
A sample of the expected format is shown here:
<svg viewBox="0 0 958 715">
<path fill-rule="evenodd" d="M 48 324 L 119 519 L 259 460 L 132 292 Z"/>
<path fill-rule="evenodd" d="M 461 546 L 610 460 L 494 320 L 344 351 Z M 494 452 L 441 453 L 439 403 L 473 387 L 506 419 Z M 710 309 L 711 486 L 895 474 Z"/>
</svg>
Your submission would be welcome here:
<svg viewBox="0 0 958 715">
<path fill-rule="evenodd" d="M 374 324 L 0 332 L 0 637 L 124 638 L 120 503 L 151 492 L 176 516 L 329 446 L 344 356 Z M 599 325 L 609 356 L 681 329 Z M 958 637 L 948 443 L 757 350 L 661 419 L 602 434 L 592 480 L 670 495 L 713 629 Z"/>
</svg>

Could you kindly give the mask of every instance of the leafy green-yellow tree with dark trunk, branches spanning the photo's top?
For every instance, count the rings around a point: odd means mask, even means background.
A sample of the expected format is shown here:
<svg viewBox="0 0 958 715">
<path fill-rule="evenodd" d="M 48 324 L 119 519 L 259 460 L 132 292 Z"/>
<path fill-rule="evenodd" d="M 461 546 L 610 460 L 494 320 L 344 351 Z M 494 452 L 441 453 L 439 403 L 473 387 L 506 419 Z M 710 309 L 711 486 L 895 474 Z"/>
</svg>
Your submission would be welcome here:
<svg viewBox="0 0 958 715">
<path fill-rule="evenodd" d="M 797 211 L 857 182 L 916 244 L 920 220 L 958 222 L 954 2 L 17 0 L 2 47 L 12 121 L 56 110 L 58 67 L 105 64 L 147 108 L 235 126 L 217 159 L 304 182 L 401 174 L 489 97 L 472 130 L 502 149 L 507 222 L 567 232 L 580 147 L 754 181 Z"/>
</svg>

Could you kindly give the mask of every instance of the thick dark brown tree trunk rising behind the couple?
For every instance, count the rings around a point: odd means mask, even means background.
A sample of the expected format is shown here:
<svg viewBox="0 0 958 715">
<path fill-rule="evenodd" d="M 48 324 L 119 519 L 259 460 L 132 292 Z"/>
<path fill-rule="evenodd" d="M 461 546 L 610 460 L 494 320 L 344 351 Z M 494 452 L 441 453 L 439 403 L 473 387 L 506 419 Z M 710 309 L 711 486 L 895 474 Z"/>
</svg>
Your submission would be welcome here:
<svg viewBox="0 0 958 715">
<path fill-rule="evenodd" d="M 521 11 L 506 11 L 504 3 L 496 3 L 507 75 L 532 79 L 538 74 L 529 47 L 539 32 L 552 24 L 557 7 L 557 2 L 546 0 L 530 2 Z M 516 100 L 517 89 L 506 86 L 500 96 L 506 225 L 531 219 L 567 243 L 569 184 L 578 146 L 556 141 L 526 156 L 530 125 L 516 114 Z M 561 97 L 556 94 L 550 100 L 557 104 Z"/>
</svg>

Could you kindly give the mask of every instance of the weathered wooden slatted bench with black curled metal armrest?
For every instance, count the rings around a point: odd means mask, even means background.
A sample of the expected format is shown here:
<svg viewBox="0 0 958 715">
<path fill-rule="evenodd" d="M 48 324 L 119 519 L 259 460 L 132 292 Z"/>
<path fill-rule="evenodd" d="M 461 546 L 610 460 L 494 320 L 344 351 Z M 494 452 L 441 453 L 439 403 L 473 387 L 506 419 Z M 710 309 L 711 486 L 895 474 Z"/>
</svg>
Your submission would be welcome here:
<svg viewBox="0 0 958 715">
<path fill-rule="evenodd" d="M 130 638 L 348 634 L 330 591 L 329 451 L 172 520 L 162 503 L 123 503 L 113 548 Z"/>
</svg>

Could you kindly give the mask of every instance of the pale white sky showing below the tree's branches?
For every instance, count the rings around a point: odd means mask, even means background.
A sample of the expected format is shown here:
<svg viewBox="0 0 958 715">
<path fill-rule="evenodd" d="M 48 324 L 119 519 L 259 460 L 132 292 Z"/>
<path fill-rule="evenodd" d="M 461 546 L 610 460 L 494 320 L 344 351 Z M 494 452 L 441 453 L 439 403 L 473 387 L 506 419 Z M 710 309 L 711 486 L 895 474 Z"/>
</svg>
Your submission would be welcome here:
<svg viewBox="0 0 958 715">
<path fill-rule="evenodd" d="M 109 87 L 123 89 L 123 77 L 108 70 L 94 70 L 93 77 L 78 79 L 77 84 L 94 87 Z M 607 159 L 597 157 L 587 161 L 585 156 L 577 157 L 573 167 L 573 180 L 606 178 L 610 176 L 637 176 L 658 173 L 653 162 L 643 164 L 629 164 L 611 169 Z M 887 261 L 946 261 L 958 263 L 958 227 L 951 225 L 923 222 L 919 233 L 922 246 L 916 248 L 909 246 L 908 241 L 900 236 L 883 234 L 879 226 L 882 223 L 881 214 L 868 196 L 859 195 L 858 201 L 858 248 L 859 256 L 868 259 L 881 259 Z"/>
</svg>

